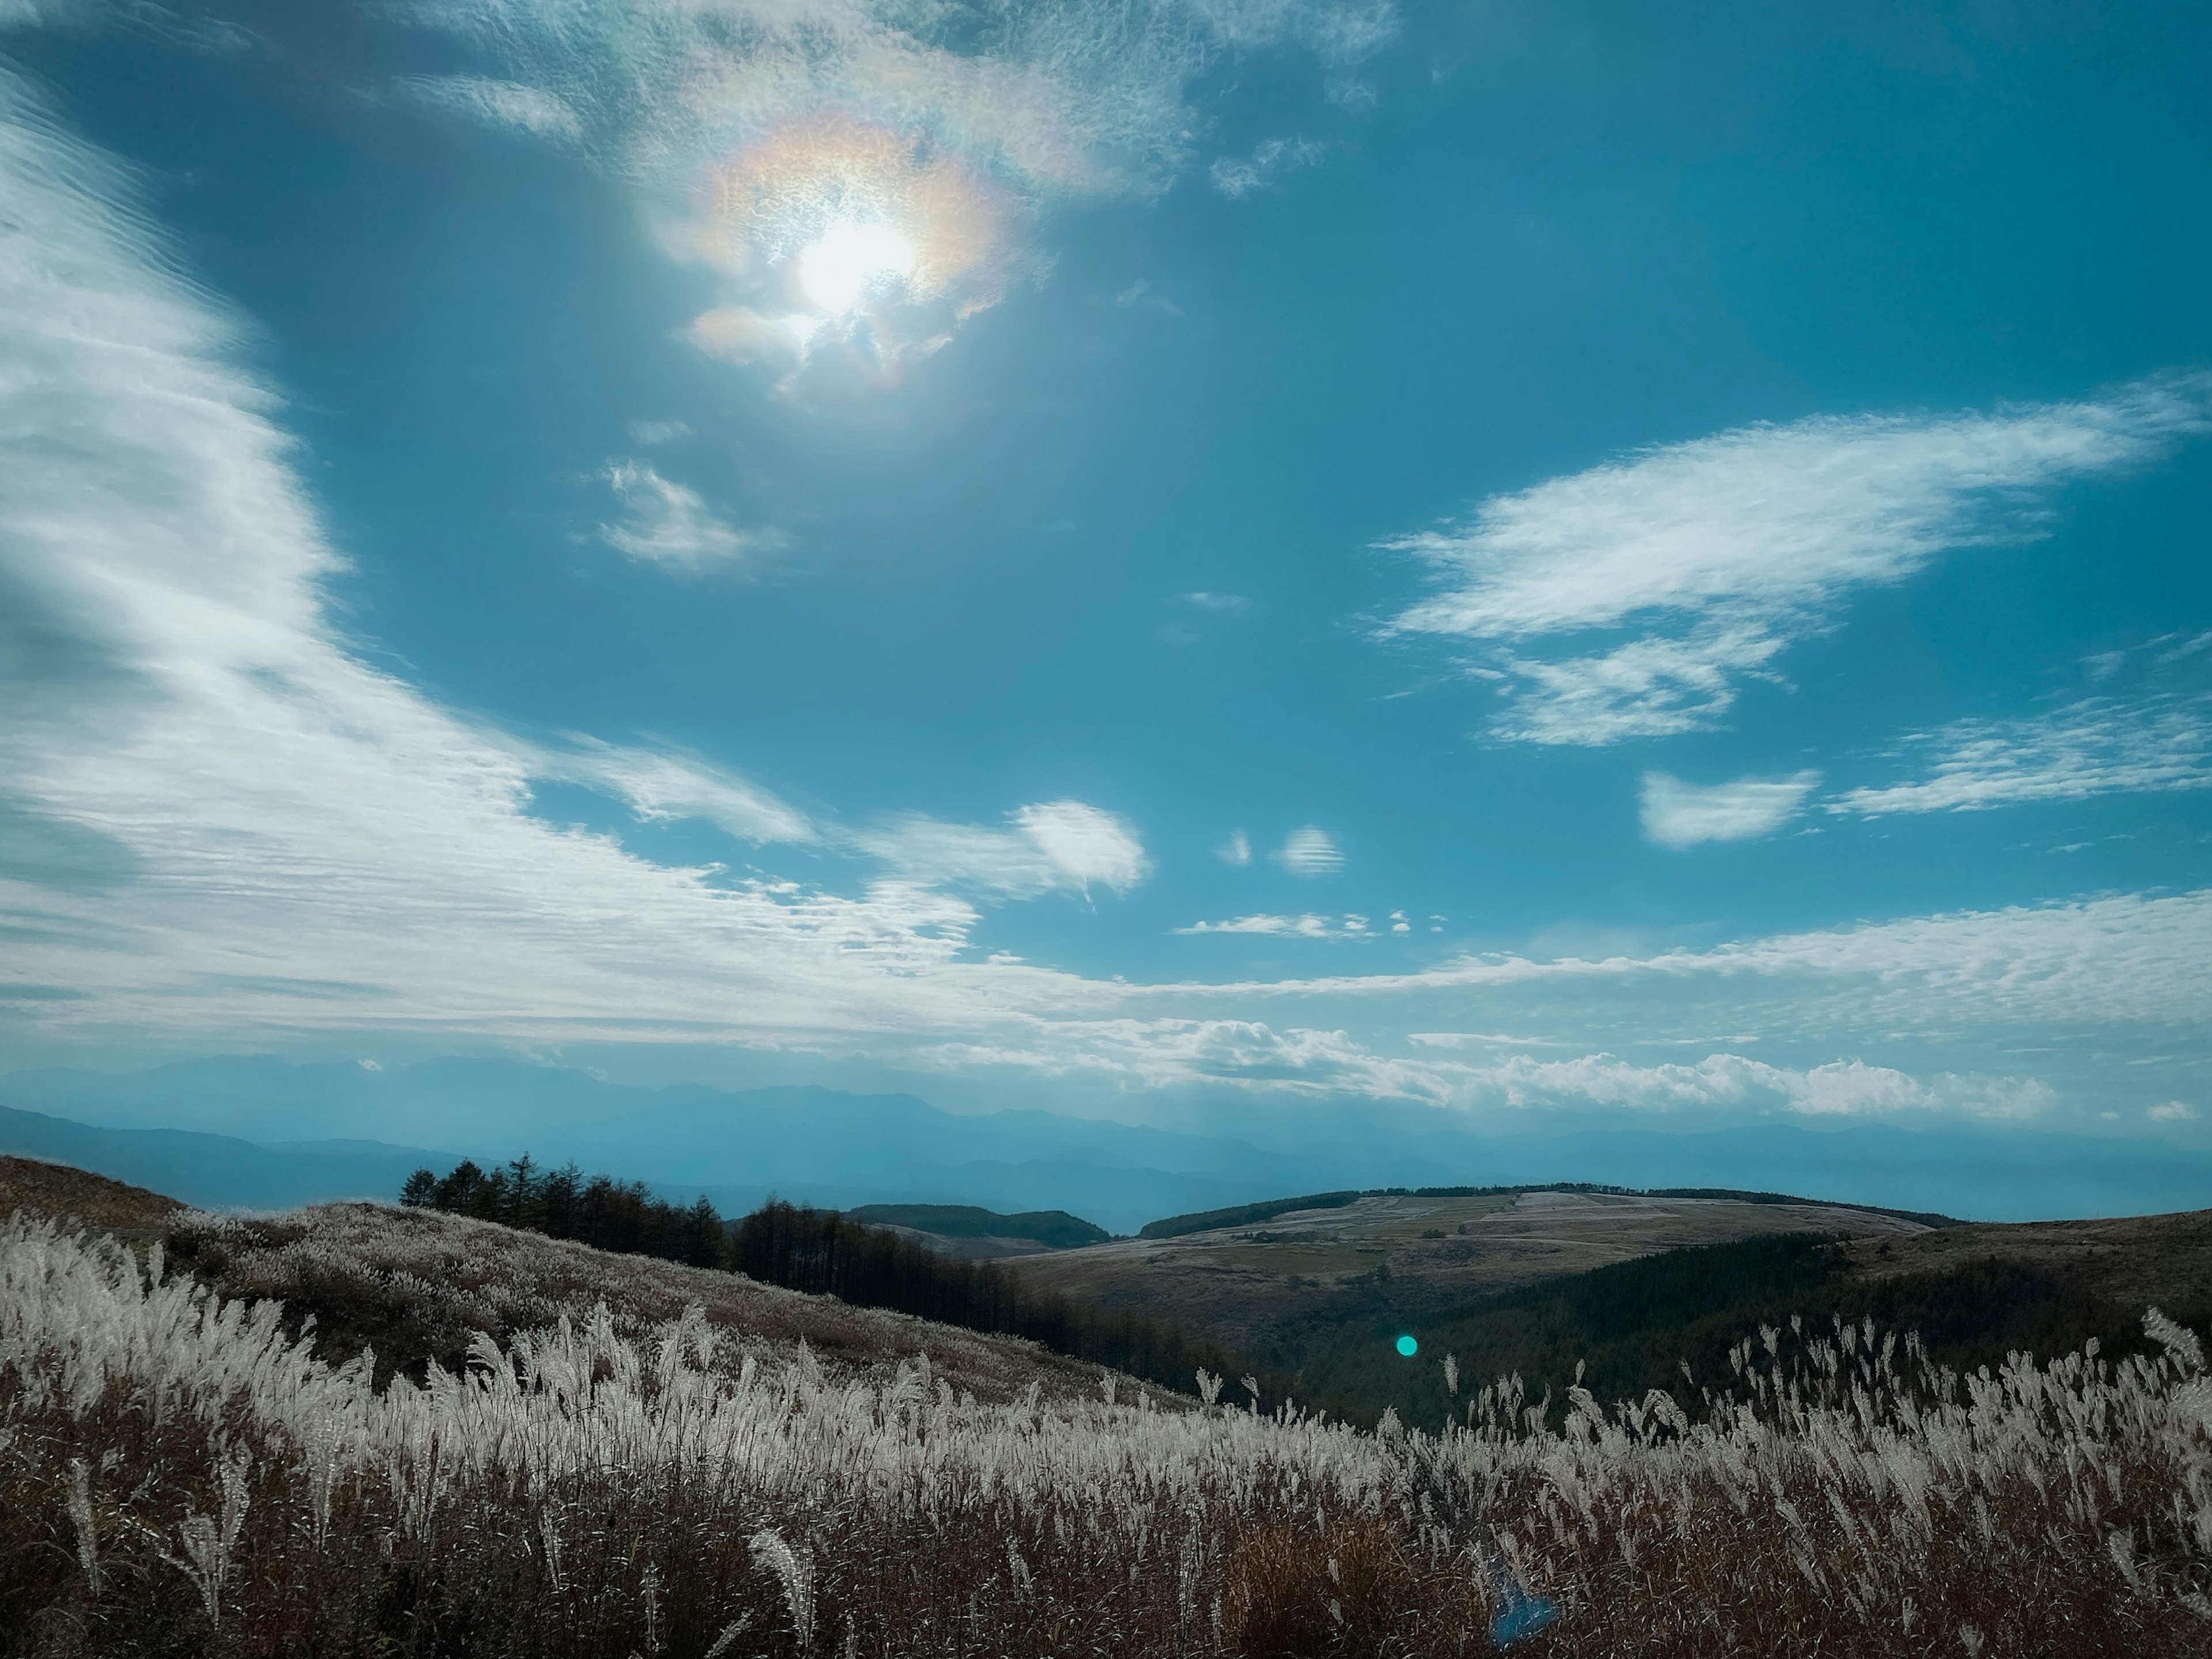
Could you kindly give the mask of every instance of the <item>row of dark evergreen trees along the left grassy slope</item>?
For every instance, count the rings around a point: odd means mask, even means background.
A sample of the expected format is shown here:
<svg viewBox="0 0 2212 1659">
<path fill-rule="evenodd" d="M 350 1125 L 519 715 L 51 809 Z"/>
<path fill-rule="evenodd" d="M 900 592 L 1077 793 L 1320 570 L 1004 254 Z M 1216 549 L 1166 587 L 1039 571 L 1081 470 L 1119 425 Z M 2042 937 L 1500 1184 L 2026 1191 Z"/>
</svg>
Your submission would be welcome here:
<svg viewBox="0 0 2212 1659">
<path fill-rule="evenodd" d="M 661 1256 L 692 1267 L 741 1272 L 765 1285 L 838 1296 L 854 1307 L 891 1307 L 971 1332 L 1026 1336 L 1093 1365 L 1108 1365 L 1190 1394 L 1199 1367 L 1234 1376 L 1241 1367 L 1179 1327 L 1130 1312 L 1077 1307 L 1042 1294 L 993 1261 L 945 1256 L 891 1228 L 852 1221 L 838 1210 L 770 1199 L 726 1223 L 714 1206 L 668 1203 L 644 1183 L 584 1177 L 573 1164 L 544 1172 L 529 1157 L 482 1170 L 460 1161 L 447 1175 L 416 1170 L 400 1203 L 449 1210 L 597 1250 Z"/>
</svg>

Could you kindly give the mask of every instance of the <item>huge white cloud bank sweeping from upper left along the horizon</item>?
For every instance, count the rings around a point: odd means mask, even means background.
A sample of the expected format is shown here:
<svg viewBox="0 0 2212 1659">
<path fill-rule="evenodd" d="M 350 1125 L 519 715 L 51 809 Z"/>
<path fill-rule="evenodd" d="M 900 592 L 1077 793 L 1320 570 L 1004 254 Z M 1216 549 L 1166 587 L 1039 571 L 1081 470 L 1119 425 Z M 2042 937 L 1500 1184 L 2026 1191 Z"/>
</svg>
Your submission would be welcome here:
<svg viewBox="0 0 2212 1659">
<path fill-rule="evenodd" d="M 332 622 L 341 560 L 272 392 L 230 354 L 237 334 L 117 170 L 0 75 L 0 361 L 15 369 L 0 378 L 0 807 L 73 860 L 0 845 L 0 982 L 73 993 L 4 1000 L 11 1044 L 343 1042 L 352 1057 L 387 1031 L 737 1042 L 885 1068 L 1000 1055 L 1130 1088 L 1228 1079 L 1478 1106 L 1613 1091 L 1624 1110 L 1681 1097 L 1761 1113 L 2028 1110 L 2033 1088 L 2004 1082 L 2004 1064 L 1907 1066 L 1893 1048 L 1989 1060 L 2026 1033 L 2110 1053 L 2159 1026 L 2161 1053 L 2185 1055 L 2212 1026 L 2212 891 L 1599 962 L 1133 987 L 980 960 L 978 905 L 949 891 L 1133 887 L 1135 830 L 1088 803 L 869 832 L 889 874 L 858 894 L 655 865 L 533 816 L 533 779 L 761 843 L 867 847 L 695 757 L 588 741 L 553 754 L 372 668 Z M 1252 1018 L 1294 1002 L 1294 1022 Z M 1237 1018 L 1199 1018 L 1217 1011 Z M 1571 1031 L 1624 1057 L 1573 1073 L 1407 1060 L 1389 1029 Z M 1747 1062 L 1745 1042 L 1697 1033 L 1814 1033 L 1801 1048 L 1843 1055 L 1843 1071 L 1781 1064 L 1778 1048 Z M 1641 1064 L 1637 1042 L 1697 1042 L 1670 1053 L 1708 1060 L 1679 1075 Z M 2000 1082 L 1942 1082 L 1978 1075 Z M 2135 1121 L 2172 1091 L 2132 1102 Z"/>
</svg>

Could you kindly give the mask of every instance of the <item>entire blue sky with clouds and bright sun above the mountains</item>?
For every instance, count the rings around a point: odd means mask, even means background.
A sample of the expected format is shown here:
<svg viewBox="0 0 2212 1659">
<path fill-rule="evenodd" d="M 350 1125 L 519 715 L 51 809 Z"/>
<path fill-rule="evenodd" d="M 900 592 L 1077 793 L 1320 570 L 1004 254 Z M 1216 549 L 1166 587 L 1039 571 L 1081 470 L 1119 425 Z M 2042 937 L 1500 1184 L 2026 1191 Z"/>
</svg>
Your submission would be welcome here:
<svg viewBox="0 0 2212 1659">
<path fill-rule="evenodd" d="M 0 24 L 0 1066 L 2212 1144 L 2201 11 Z"/>
</svg>

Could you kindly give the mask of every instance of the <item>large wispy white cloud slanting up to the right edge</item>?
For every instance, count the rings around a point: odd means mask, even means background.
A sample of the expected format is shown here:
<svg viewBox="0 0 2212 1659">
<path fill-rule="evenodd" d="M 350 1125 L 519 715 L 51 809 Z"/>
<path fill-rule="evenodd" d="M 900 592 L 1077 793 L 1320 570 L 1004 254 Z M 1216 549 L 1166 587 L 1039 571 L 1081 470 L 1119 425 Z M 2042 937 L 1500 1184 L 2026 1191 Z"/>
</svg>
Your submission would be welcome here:
<svg viewBox="0 0 2212 1659">
<path fill-rule="evenodd" d="M 1989 416 L 1823 416 L 1650 449 L 1383 542 L 1436 577 L 1385 633 L 1480 648 L 1506 739 L 1712 726 L 1856 588 L 2044 533 L 2055 489 L 2157 460 L 2212 427 L 2208 405 L 2212 378 L 2174 376 Z"/>
</svg>

